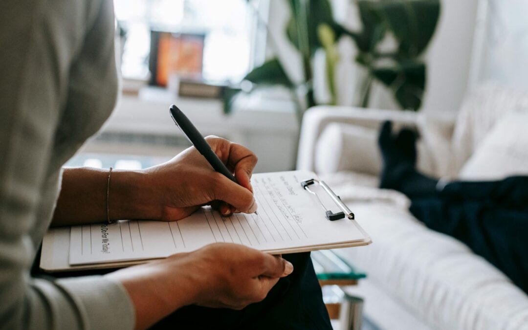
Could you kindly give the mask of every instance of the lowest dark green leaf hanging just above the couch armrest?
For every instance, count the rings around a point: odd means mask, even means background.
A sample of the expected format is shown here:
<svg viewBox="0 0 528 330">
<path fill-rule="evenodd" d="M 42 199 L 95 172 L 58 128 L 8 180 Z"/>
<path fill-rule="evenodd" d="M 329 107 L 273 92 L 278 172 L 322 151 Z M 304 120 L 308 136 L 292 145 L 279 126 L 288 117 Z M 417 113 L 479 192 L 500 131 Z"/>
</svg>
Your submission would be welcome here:
<svg viewBox="0 0 528 330">
<path fill-rule="evenodd" d="M 404 110 L 418 111 L 426 84 L 426 65 L 408 61 L 397 67 L 371 68 L 373 76 L 389 87 Z"/>
</svg>

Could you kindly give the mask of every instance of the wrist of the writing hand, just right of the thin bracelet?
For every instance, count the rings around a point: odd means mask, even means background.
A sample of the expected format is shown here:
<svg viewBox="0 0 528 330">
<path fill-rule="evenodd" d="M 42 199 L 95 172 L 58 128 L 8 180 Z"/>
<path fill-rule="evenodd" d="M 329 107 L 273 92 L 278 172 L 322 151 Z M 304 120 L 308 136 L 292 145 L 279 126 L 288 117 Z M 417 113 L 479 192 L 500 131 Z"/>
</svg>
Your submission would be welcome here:
<svg viewBox="0 0 528 330">
<path fill-rule="evenodd" d="M 161 219 L 159 200 L 143 171 L 112 171 L 109 202 L 110 219 Z"/>
</svg>

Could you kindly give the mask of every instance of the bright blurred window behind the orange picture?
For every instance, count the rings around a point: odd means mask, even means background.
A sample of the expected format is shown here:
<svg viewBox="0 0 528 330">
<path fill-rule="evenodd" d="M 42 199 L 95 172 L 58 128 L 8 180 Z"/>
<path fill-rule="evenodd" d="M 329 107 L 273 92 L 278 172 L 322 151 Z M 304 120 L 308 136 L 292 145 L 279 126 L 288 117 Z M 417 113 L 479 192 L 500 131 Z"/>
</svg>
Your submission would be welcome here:
<svg viewBox="0 0 528 330">
<path fill-rule="evenodd" d="M 203 78 L 239 81 L 262 49 L 255 11 L 262 1 L 246 0 L 114 0 L 118 24 L 126 33 L 121 72 L 146 79 L 150 31 L 205 34 Z M 263 51 L 262 51 L 263 53 Z"/>
</svg>

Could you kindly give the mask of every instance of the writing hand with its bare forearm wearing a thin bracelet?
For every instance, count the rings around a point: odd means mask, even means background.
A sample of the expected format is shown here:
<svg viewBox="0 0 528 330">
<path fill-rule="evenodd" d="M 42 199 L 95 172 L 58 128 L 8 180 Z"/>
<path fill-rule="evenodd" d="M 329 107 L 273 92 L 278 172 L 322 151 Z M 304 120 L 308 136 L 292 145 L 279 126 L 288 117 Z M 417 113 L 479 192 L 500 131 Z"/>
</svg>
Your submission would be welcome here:
<svg viewBox="0 0 528 330">
<path fill-rule="evenodd" d="M 181 111 L 179 114 L 187 119 Z M 111 181 L 108 169 L 64 169 L 52 224 L 110 219 L 176 221 L 207 204 L 223 215 L 256 212 L 250 179 L 257 156 L 219 137 L 204 139 L 190 121 L 183 127 L 193 128 L 194 134 L 187 136 L 194 146 L 164 164 L 138 171 L 115 169 Z M 105 191 L 101 187 L 107 184 Z M 76 214 L 75 222 L 71 214 Z"/>
</svg>

